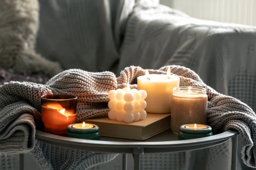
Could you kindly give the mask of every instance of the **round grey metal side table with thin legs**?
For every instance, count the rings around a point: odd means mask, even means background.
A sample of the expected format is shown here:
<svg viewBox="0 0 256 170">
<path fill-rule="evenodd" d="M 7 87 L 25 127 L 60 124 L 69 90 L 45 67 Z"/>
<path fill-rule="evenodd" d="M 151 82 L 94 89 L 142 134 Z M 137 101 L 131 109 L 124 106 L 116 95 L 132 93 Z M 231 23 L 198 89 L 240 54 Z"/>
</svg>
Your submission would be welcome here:
<svg viewBox="0 0 256 170">
<path fill-rule="evenodd" d="M 134 156 L 134 170 L 140 169 L 140 155 L 148 153 L 184 152 L 197 149 L 209 148 L 219 145 L 232 138 L 232 163 L 231 170 L 237 169 L 237 140 L 238 132 L 228 130 L 210 137 L 203 137 L 192 140 L 178 141 L 177 134 L 166 130 L 145 141 L 100 137 L 100 141 L 84 140 L 57 136 L 36 130 L 36 140 L 59 147 L 92 151 L 123 154 L 122 170 L 127 169 L 127 155 Z M 20 154 L 20 170 L 24 170 L 24 155 Z"/>
</svg>

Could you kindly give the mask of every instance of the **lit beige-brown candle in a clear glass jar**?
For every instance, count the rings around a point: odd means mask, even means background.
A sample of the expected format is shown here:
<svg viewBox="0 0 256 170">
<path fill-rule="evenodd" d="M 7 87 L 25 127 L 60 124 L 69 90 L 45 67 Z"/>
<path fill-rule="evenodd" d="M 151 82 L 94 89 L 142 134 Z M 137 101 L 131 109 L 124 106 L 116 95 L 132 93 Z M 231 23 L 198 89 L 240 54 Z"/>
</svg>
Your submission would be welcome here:
<svg viewBox="0 0 256 170">
<path fill-rule="evenodd" d="M 181 86 L 173 89 L 171 97 L 171 130 L 179 132 L 181 125 L 207 124 L 206 89 Z"/>
</svg>

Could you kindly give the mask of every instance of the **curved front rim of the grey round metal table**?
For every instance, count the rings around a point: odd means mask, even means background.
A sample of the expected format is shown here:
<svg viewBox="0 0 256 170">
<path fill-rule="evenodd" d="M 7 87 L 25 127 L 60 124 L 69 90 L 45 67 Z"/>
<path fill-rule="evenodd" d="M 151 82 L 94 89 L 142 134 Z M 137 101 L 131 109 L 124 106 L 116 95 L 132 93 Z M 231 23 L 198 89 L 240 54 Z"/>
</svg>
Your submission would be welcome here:
<svg viewBox="0 0 256 170">
<path fill-rule="evenodd" d="M 179 141 L 161 141 L 161 142 L 114 142 L 114 141 L 97 141 L 70 138 L 58 136 L 54 134 L 45 133 L 36 130 L 35 139 L 39 141 L 49 141 L 49 143 L 72 144 L 80 146 L 92 147 L 111 147 L 111 148 L 167 148 L 167 147 L 181 147 L 181 146 L 195 146 L 207 143 L 215 143 L 225 139 L 237 136 L 239 133 L 235 130 L 228 130 L 226 132 L 216 134 L 210 137 L 203 137 L 191 140 Z"/>
</svg>

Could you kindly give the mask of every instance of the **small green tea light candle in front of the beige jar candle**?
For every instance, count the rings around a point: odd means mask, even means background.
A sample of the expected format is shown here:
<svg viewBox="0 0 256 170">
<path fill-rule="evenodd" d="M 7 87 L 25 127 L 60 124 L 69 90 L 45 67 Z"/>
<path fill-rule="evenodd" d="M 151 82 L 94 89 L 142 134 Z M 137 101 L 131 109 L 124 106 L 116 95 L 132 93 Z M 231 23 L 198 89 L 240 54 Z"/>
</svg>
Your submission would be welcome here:
<svg viewBox="0 0 256 170">
<path fill-rule="evenodd" d="M 182 125 L 178 133 L 178 140 L 195 139 L 212 136 L 211 127 L 207 125 L 188 124 Z"/>
</svg>

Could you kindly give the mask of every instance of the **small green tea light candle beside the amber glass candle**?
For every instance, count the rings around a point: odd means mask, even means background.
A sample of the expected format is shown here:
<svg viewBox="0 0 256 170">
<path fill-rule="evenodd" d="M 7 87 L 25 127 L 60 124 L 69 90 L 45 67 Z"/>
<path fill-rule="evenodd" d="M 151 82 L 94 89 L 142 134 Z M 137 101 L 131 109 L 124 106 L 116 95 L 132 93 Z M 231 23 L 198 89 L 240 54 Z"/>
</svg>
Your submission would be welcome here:
<svg viewBox="0 0 256 170">
<path fill-rule="evenodd" d="M 100 140 L 99 126 L 90 123 L 75 123 L 68 125 L 67 137 Z"/>
</svg>

